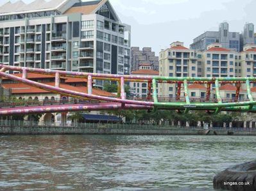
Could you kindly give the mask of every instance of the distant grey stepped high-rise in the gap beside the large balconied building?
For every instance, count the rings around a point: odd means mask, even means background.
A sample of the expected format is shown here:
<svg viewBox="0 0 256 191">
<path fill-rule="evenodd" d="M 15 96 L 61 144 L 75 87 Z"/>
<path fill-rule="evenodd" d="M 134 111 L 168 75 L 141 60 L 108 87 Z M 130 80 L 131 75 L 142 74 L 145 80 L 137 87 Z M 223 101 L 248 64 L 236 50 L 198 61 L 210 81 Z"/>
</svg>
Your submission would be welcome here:
<svg viewBox="0 0 256 191">
<path fill-rule="evenodd" d="M 159 57 L 155 56 L 155 52 L 152 52 L 151 47 L 143 47 L 142 50 L 139 47 L 131 48 L 132 70 L 139 70 L 141 63 L 149 63 L 152 65 L 153 70 L 158 70 Z"/>
</svg>

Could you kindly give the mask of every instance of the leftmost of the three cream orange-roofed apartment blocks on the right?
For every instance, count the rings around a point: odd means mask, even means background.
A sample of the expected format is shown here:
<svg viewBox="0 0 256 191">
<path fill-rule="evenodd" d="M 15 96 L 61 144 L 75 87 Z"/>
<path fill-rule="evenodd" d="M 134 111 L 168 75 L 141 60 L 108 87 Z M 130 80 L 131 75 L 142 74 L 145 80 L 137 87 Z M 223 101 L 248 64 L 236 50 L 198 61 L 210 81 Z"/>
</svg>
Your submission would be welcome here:
<svg viewBox="0 0 256 191">
<path fill-rule="evenodd" d="M 159 74 L 169 77 L 198 77 L 201 76 L 202 62 L 201 53 L 183 46 L 183 42 L 173 42 L 170 47 L 160 52 Z M 199 61 L 199 65 L 198 65 Z M 159 84 L 162 96 L 175 96 L 176 86 L 174 84 Z"/>
</svg>

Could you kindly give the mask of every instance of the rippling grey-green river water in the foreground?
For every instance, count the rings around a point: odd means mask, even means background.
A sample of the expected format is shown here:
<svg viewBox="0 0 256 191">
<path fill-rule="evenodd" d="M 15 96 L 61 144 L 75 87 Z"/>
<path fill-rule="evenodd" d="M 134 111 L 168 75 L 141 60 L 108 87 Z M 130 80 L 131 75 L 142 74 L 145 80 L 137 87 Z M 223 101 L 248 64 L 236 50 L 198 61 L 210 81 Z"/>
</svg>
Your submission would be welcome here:
<svg viewBox="0 0 256 191">
<path fill-rule="evenodd" d="M 255 137 L 0 136 L 0 190 L 212 188 L 214 174 L 255 160 Z"/>
</svg>

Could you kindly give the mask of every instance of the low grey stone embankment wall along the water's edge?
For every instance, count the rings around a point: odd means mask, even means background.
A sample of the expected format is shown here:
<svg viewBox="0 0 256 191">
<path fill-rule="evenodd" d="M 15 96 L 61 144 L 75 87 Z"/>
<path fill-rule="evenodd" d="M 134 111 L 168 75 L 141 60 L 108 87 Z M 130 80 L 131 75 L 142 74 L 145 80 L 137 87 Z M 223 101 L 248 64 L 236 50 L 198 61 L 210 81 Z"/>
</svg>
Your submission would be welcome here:
<svg viewBox="0 0 256 191">
<path fill-rule="evenodd" d="M 127 127 L 73 127 L 73 126 L 0 126 L 0 135 L 256 135 L 252 129 L 149 128 Z"/>
</svg>

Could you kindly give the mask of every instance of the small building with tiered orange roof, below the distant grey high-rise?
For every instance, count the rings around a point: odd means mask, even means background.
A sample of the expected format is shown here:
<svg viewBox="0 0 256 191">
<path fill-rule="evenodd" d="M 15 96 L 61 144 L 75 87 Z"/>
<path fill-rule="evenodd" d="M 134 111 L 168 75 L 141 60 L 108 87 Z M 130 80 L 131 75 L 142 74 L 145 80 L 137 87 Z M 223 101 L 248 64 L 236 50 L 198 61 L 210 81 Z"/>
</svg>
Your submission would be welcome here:
<svg viewBox="0 0 256 191">
<path fill-rule="evenodd" d="M 159 76 L 159 72 L 157 70 L 153 70 L 153 66 L 150 63 L 141 63 L 139 65 L 139 70 L 135 70 L 131 72 L 131 75 L 146 75 L 146 76 Z M 148 96 L 148 82 L 130 82 L 130 91 L 133 96 L 137 96 L 139 98 L 146 98 Z M 158 92 L 158 88 L 157 88 Z M 152 88 L 151 88 L 152 93 Z"/>
</svg>

